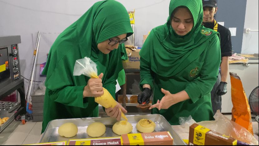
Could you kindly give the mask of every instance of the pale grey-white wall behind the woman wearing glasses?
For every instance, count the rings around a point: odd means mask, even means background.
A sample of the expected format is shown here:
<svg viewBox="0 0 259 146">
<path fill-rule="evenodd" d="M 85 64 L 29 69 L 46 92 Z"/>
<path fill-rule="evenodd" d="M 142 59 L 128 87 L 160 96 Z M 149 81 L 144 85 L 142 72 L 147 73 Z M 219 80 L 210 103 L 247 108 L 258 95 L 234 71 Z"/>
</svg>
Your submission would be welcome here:
<svg viewBox="0 0 259 146">
<path fill-rule="evenodd" d="M 52 43 L 98 0 L 0 0 L 0 35 L 21 35 L 19 44 L 21 74 L 29 78 L 37 32 L 41 32 L 37 68 L 46 61 Z M 170 0 L 118 0 L 128 11 L 135 8 L 135 45 L 141 47 L 143 35 L 166 23 Z M 37 84 L 37 83 L 36 83 Z M 27 83 L 25 83 L 27 88 Z"/>
</svg>

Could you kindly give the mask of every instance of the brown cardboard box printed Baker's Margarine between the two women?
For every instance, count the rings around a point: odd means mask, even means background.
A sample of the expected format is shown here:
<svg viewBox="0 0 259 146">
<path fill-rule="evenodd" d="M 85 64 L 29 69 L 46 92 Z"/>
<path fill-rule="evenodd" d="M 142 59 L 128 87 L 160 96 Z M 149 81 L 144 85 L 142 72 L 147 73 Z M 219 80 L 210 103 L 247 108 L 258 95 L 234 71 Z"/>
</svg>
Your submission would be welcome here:
<svg viewBox="0 0 259 146">
<path fill-rule="evenodd" d="M 124 69 L 139 69 L 140 67 L 140 55 L 139 51 L 141 49 L 137 49 L 136 51 L 132 51 L 131 56 L 128 57 L 128 60 L 123 60 L 122 65 Z"/>
</svg>

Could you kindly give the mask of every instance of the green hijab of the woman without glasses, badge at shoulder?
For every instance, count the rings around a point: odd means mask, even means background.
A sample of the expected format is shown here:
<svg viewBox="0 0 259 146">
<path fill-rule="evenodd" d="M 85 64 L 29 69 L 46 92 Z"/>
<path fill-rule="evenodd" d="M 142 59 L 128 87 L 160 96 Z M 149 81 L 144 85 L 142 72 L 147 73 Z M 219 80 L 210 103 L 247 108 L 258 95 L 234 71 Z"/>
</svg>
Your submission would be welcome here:
<svg viewBox="0 0 259 146">
<path fill-rule="evenodd" d="M 179 36 L 171 26 L 170 16 L 177 7 L 186 7 L 193 17 L 193 28 Z M 209 47 L 217 33 L 203 27 L 201 0 L 171 0 L 167 23 L 152 29 L 140 51 L 140 57 L 150 60 L 151 70 L 160 76 L 171 77 L 182 71 Z"/>
</svg>

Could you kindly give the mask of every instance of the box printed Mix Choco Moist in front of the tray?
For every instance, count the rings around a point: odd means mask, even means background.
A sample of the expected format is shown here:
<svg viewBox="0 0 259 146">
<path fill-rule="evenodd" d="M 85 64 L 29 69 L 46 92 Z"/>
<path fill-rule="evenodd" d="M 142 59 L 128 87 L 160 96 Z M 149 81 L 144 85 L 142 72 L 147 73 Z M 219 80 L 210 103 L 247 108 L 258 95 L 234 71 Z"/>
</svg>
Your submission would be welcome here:
<svg viewBox="0 0 259 146">
<path fill-rule="evenodd" d="M 121 137 L 70 139 L 68 145 L 122 145 Z"/>
</svg>

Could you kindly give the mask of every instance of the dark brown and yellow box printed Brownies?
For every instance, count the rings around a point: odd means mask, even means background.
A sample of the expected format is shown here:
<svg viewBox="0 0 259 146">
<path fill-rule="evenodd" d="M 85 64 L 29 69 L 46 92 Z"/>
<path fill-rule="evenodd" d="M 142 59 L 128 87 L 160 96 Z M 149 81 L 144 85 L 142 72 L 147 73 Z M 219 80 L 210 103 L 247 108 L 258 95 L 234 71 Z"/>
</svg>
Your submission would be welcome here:
<svg viewBox="0 0 259 146">
<path fill-rule="evenodd" d="M 190 126 L 189 145 L 237 145 L 237 139 L 194 123 Z"/>
</svg>

